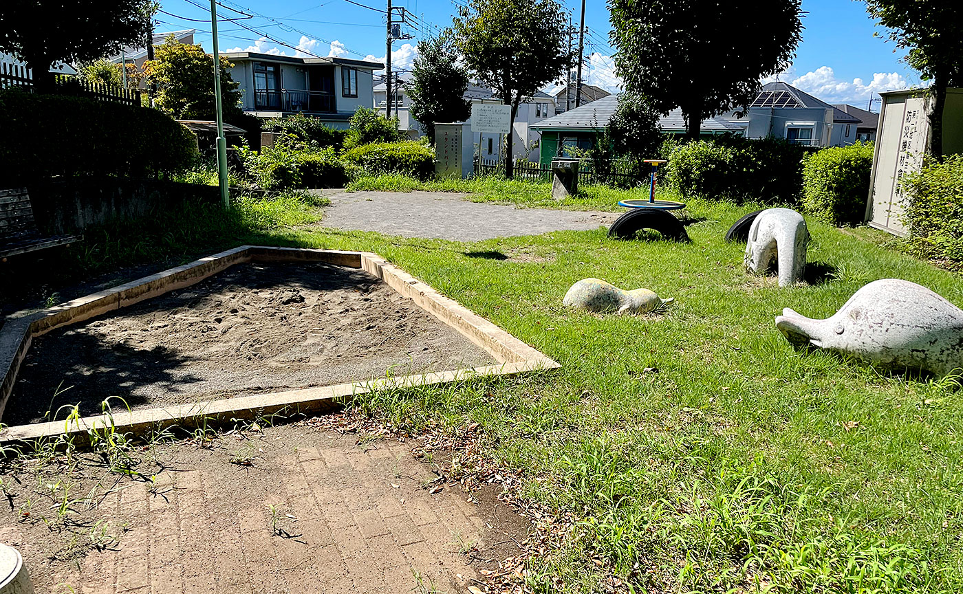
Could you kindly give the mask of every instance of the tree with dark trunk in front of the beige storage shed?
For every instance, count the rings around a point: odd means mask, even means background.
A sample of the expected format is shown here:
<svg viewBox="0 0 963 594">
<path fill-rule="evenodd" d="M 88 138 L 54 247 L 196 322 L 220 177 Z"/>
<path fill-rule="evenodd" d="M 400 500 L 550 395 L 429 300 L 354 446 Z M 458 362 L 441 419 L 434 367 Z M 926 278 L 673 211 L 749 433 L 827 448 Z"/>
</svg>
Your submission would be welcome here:
<svg viewBox="0 0 963 594">
<path fill-rule="evenodd" d="M 943 156 L 943 110 L 948 87 L 963 86 L 963 2 L 960 0 L 867 0 L 887 37 L 908 49 L 906 63 L 933 82 L 930 151 Z"/>
</svg>

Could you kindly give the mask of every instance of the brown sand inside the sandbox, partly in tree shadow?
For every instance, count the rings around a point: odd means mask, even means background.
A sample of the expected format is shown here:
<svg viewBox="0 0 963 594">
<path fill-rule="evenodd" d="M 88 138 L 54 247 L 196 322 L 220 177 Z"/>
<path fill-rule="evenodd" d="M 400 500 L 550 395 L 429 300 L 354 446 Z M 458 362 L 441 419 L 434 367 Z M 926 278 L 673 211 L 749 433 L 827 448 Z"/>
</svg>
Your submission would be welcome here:
<svg viewBox="0 0 963 594">
<path fill-rule="evenodd" d="M 3 422 L 77 402 L 96 414 L 109 396 L 144 408 L 494 363 L 368 272 L 243 264 L 35 339 Z"/>
</svg>

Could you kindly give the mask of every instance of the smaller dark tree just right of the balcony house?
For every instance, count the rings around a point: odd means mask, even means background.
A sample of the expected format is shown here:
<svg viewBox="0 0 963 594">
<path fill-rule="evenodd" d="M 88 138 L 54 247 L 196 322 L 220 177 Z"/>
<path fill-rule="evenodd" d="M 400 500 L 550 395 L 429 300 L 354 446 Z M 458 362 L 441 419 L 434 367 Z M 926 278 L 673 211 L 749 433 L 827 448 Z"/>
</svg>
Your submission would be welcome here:
<svg viewBox="0 0 963 594">
<path fill-rule="evenodd" d="M 411 66 L 408 87 L 409 111 L 421 122 L 434 143 L 436 121 L 462 121 L 471 116 L 468 71 L 458 63 L 458 51 L 451 30 L 418 43 L 418 56 Z"/>
</svg>

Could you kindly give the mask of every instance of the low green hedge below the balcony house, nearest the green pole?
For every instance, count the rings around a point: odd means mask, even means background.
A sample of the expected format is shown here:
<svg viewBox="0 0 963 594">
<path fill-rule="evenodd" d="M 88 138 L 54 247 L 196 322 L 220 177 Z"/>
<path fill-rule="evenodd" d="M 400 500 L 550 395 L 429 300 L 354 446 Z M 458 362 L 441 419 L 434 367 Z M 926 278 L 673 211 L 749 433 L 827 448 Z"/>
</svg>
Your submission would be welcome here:
<svg viewBox="0 0 963 594">
<path fill-rule="evenodd" d="M 343 188 L 348 184 L 345 164 L 333 148 L 293 151 L 263 148 L 242 154 L 247 177 L 262 190 L 288 188 Z"/>
</svg>

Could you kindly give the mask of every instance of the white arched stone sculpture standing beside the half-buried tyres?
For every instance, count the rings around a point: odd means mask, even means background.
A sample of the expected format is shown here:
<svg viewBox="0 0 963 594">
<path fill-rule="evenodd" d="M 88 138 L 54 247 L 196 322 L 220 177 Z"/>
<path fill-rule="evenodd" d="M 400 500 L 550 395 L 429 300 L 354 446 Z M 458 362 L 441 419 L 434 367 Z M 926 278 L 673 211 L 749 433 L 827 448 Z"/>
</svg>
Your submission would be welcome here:
<svg viewBox="0 0 963 594">
<path fill-rule="evenodd" d="M 779 286 L 788 287 L 806 272 L 809 230 L 802 215 L 788 208 L 770 208 L 752 221 L 745 245 L 745 269 L 765 274 L 772 264 L 779 273 Z"/>
</svg>

